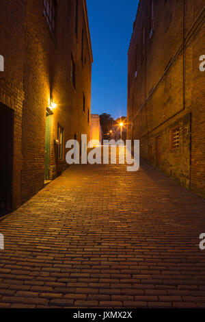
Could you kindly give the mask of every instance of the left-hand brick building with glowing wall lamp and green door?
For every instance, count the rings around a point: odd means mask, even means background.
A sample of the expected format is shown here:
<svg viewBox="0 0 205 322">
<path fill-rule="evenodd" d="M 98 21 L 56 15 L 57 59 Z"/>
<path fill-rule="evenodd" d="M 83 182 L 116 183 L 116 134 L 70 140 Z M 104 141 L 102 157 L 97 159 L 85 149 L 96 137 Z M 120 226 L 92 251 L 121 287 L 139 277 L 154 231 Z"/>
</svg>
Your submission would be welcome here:
<svg viewBox="0 0 205 322">
<path fill-rule="evenodd" d="M 66 169 L 67 140 L 90 138 L 93 58 L 85 0 L 2 0 L 0 21 L 3 213 Z"/>
</svg>

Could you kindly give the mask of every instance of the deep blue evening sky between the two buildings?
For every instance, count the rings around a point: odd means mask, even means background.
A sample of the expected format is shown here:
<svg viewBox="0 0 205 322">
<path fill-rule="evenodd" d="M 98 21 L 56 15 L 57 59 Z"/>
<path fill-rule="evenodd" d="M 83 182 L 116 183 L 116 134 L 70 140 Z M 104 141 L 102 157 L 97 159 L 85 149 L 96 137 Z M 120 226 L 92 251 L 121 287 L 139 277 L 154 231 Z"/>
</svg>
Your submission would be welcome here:
<svg viewBox="0 0 205 322">
<path fill-rule="evenodd" d="M 127 52 L 138 0 L 87 0 L 94 64 L 92 113 L 126 116 Z"/>
</svg>

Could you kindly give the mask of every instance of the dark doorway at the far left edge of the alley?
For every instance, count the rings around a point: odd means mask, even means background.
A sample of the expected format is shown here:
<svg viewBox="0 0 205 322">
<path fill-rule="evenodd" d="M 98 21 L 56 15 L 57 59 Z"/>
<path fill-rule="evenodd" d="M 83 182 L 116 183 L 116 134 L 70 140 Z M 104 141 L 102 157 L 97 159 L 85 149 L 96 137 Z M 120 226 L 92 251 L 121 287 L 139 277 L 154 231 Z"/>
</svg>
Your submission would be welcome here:
<svg viewBox="0 0 205 322">
<path fill-rule="evenodd" d="M 12 211 L 13 110 L 0 103 L 0 216 Z"/>
</svg>

